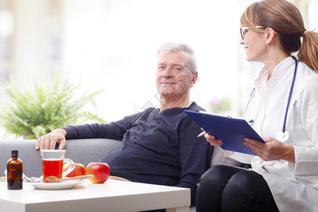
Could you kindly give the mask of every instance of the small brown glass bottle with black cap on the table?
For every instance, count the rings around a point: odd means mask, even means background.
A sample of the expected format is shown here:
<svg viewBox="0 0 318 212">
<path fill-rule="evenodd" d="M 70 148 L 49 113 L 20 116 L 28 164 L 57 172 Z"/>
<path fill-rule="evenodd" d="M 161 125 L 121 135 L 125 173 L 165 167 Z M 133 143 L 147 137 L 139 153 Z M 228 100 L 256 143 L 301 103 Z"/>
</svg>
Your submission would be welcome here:
<svg viewBox="0 0 318 212">
<path fill-rule="evenodd" d="M 18 159 L 18 150 L 11 150 L 11 159 L 6 163 L 8 189 L 22 189 L 22 160 Z"/>
</svg>

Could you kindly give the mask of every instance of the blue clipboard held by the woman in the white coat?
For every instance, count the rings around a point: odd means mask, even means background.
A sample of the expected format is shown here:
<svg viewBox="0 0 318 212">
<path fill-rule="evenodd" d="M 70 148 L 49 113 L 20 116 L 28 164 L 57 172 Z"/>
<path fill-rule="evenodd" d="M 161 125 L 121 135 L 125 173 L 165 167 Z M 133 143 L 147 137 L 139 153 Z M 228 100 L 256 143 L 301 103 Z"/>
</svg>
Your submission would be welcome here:
<svg viewBox="0 0 318 212">
<path fill-rule="evenodd" d="M 189 110 L 184 110 L 184 112 L 207 134 L 216 136 L 216 139 L 222 139 L 223 144 L 220 147 L 225 150 L 257 155 L 251 148 L 243 144 L 244 139 L 249 138 L 265 143 L 245 119 L 234 119 Z"/>
</svg>

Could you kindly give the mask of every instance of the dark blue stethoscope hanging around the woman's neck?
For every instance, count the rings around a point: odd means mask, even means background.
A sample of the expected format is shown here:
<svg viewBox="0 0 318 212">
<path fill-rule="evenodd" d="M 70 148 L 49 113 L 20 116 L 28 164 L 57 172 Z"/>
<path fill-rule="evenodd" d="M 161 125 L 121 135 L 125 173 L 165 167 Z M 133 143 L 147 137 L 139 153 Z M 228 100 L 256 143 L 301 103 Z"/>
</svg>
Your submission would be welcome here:
<svg viewBox="0 0 318 212">
<path fill-rule="evenodd" d="M 286 120 L 287 120 L 287 114 L 288 114 L 288 108 L 290 105 L 290 99 L 291 99 L 291 95 L 293 93 L 293 88 L 294 88 L 294 83 L 295 83 L 295 78 L 296 78 L 296 73 L 297 73 L 297 59 L 295 57 L 293 57 L 293 59 L 295 60 L 295 70 L 294 70 L 294 75 L 293 75 L 293 81 L 291 83 L 290 86 L 290 90 L 289 90 L 289 95 L 288 95 L 288 102 L 287 102 L 287 106 L 286 106 L 286 110 L 285 110 L 285 117 L 284 117 L 284 122 L 283 122 L 283 129 L 281 131 L 278 131 L 278 133 L 276 134 L 276 139 L 278 141 L 287 141 L 289 138 L 289 133 L 288 131 L 285 130 L 286 127 Z M 249 96 L 249 102 L 252 100 L 252 98 L 254 97 L 254 93 L 255 93 L 255 88 L 253 88 L 251 95 Z M 247 105 L 249 105 L 249 102 L 247 103 Z M 257 112 L 257 115 L 259 113 Z M 255 117 L 255 119 L 257 118 L 257 116 Z M 254 124 L 254 119 L 249 120 L 249 124 L 252 125 Z"/>
</svg>

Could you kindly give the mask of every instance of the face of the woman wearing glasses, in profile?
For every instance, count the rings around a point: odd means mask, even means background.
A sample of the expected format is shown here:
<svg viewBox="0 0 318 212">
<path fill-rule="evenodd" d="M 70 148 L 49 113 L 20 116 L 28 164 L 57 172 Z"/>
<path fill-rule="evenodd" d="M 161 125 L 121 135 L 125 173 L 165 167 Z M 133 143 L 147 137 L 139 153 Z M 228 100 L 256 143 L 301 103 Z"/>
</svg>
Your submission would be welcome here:
<svg viewBox="0 0 318 212">
<path fill-rule="evenodd" d="M 257 33 L 253 30 L 247 30 L 244 40 L 240 40 L 244 45 L 247 61 L 262 62 L 266 58 L 266 33 Z"/>
</svg>

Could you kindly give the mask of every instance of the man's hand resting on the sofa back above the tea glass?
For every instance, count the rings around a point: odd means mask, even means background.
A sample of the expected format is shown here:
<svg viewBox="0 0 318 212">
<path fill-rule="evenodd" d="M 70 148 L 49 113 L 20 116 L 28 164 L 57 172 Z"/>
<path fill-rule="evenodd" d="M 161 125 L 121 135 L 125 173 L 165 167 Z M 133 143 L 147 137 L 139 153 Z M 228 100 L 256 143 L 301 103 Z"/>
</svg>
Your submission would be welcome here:
<svg viewBox="0 0 318 212">
<path fill-rule="evenodd" d="M 41 136 L 35 141 L 35 149 L 54 149 L 56 144 L 59 144 L 59 149 L 64 149 L 66 146 L 66 131 L 65 129 L 54 129 L 54 131 Z"/>
</svg>

